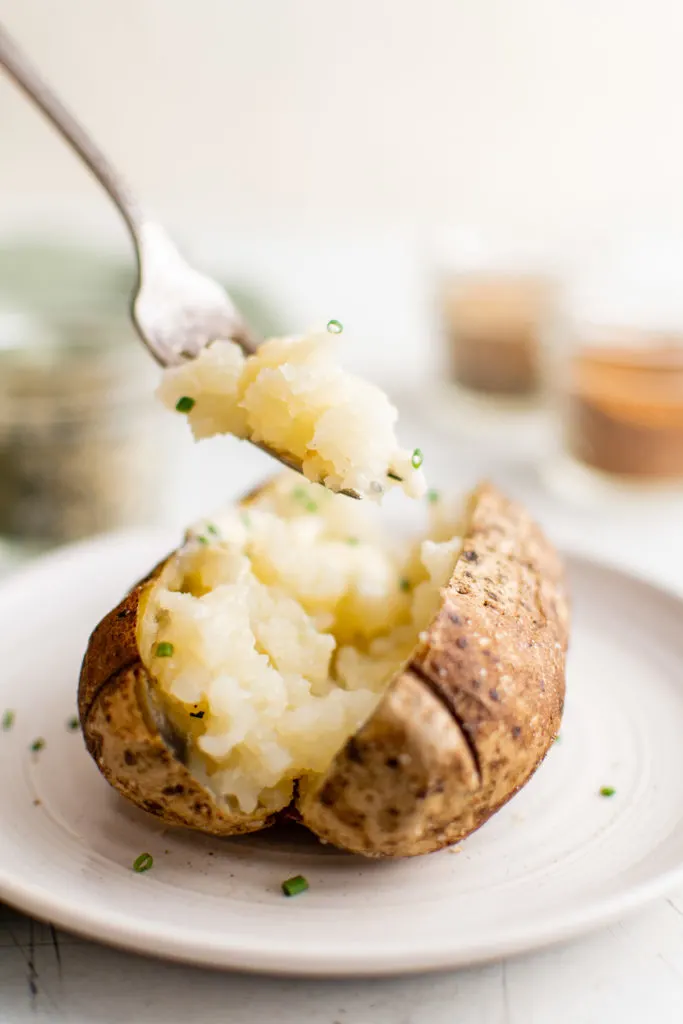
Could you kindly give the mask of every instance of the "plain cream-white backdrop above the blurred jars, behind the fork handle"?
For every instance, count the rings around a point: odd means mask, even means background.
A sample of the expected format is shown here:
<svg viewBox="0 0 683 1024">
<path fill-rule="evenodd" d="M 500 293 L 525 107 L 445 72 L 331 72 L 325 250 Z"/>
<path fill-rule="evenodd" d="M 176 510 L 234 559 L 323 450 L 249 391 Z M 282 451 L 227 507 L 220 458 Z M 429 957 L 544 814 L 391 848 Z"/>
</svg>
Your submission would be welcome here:
<svg viewBox="0 0 683 1024">
<path fill-rule="evenodd" d="M 683 229 L 678 0 L 0 0 L 164 213 Z M 96 200 L 0 81 L 0 215 Z"/>
</svg>

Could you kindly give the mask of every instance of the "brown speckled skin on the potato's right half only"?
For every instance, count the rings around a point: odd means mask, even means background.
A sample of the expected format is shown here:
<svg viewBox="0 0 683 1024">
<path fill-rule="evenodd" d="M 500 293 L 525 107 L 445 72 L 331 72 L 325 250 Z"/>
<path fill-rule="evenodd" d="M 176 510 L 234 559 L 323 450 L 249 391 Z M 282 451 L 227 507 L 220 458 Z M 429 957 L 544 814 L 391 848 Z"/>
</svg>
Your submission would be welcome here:
<svg viewBox="0 0 683 1024">
<path fill-rule="evenodd" d="M 304 823 L 371 857 L 430 853 L 469 836 L 557 735 L 568 622 L 552 545 L 521 506 L 480 485 L 438 615 L 369 722 L 301 798 Z M 450 718 L 447 741 L 436 706 Z"/>
</svg>

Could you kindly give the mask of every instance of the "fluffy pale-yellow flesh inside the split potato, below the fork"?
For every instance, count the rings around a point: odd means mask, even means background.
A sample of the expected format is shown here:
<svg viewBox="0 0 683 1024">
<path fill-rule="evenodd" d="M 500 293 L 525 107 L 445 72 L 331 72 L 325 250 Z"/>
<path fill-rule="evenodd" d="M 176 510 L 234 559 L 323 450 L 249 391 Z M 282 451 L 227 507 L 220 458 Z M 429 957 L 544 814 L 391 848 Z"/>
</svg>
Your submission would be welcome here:
<svg viewBox="0 0 683 1024">
<path fill-rule="evenodd" d="M 429 509 L 426 540 L 391 545 L 375 507 L 288 471 L 166 565 L 139 649 L 190 770 L 227 808 L 287 806 L 373 712 L 461 549 L 457 518 Z"/>
</svg>

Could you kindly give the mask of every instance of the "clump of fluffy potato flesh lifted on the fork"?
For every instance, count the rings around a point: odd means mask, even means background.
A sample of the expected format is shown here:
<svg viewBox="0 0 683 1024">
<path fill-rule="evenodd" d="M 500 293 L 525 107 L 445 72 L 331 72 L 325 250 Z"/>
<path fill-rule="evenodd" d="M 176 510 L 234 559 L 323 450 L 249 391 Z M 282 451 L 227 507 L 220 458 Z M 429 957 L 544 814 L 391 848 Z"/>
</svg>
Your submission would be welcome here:
<svg viewBox="0 0 683 1024">
<path fill-rule="evenodd" d="M 169 409 L 189 407 L 198 439 L 229 433 L 265 444 L 331 490 L 379 500 L 399 486 L 421 497 L 421 455 L 399 446 L 395 408 L 341 369 L 337 345 L 324 332 L 273 338 L 245 356 L 233 342 L 215 342 L 167 370 L 159 395 Z"/>
</svg>

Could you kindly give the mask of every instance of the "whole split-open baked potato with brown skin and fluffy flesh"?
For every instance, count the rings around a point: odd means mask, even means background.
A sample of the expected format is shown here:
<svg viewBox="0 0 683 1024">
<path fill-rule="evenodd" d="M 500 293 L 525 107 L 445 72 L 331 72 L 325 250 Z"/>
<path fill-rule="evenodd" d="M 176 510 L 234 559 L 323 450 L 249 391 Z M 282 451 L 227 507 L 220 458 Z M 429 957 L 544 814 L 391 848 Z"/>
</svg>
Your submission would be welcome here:
<svg viewBox="0 0 683 1024">
<path fill-rule="evenodd" d="M 96 627 L 79 713 L 123 796 L 216 836 L 295 817 L 403 857 L 458 843 L 528 780 L 564 701 L 558 555 L 489 483 L 455 511 L 432 500 L 413 545 L 387 547 L 365 505 L 283 474 Z"/>
</svg>

